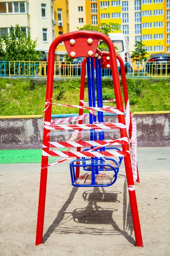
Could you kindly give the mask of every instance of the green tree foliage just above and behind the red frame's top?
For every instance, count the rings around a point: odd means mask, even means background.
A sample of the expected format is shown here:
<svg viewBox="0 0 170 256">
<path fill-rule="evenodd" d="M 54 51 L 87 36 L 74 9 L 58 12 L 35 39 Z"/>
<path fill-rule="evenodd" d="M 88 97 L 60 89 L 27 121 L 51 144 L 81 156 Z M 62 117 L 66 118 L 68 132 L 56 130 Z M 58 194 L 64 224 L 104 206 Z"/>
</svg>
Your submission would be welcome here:
<svg viewBox="0 0 170 256">
<path fill-rule="evenodd" d="M 100 23 L 97 26 L 91 26 L 91 25 L 85 25 L 82 28 L 78 28 L 79 30 L 90 30 L 90 31 L 96 31 L 96 32 L 102 32 L 105 35 L 109 35 L 109 33 L 114 32 L 115 30 L 119 30 L 119 24 L 109 22 L 109 23 Z M 100 40 L 102 41 L 102 40 Z M 98 45 L 99 49 L 105 49 L 107 50 L 108 47 L 105 44 L 105 42 L 102 42 L 102 44 Z M 117 47 L 115 47 L 117 49 Z"/>
</svg>

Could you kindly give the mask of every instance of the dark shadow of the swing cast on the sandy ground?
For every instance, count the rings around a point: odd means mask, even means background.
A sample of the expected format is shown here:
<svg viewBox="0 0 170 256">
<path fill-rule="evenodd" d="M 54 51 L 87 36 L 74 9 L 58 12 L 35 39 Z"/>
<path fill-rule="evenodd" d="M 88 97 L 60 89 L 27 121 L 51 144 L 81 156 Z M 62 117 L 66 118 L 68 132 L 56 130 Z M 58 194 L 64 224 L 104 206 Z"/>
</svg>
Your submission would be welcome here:
<svg viewBox="0 0 170 256">
<path fill-rule="evenodd" d="M 127 183 L 125 175 L 118 175 L 118 178 L 125 179 L 123 189 L 123 203 L 127 206 Z M 102 189 L 102 191 L 101 191 Z M 78 187 L 73 187 L 69 195 L 68 200 L 59 210 L 57 217 L 48 228 L 43 236 L 43 243 L 51 236 L 53 232 L 59 234 L 77 233 L 77 234 L 91 234 L 91 235 L 122 235 L 131 244 L 136 244 L 135 240 L 131 236 L 133 233 L 133 221 L 131 217 L 130 203 L 128 207 L 122 207 L 123 210 L 123 230 L 114 221 L 114 212 L 118 211 L 116 208 L 102 208 L 97 205 L 99 202 L 111 202 L 116 207 L 116 203 L 120 203 L 117 200 L 117 195 L 122 193 L 118 191 L 106 192 L 104 187 L 94 187 L 92 190 L 85 191 L 82 194 L 84 201 L 88 202 L 87 207 L 74 209 L 73 212 L 67 212 L 68 206 L 74 200 L 74 196 L 78 190 Z M 73 220 L 75 225 L 67 225 L 69 221 Z M 77 224 L 82 224 L 82 226 Z M 85 224 L 91 225 L 105 225 L 112 226 L 111 229 L 105 230 L 104 227 L 85 227 Z M 63 226 L 64 225 L 64 226 Z M 127 233 L 130 230 L 130 235 Z"/>
</svg>

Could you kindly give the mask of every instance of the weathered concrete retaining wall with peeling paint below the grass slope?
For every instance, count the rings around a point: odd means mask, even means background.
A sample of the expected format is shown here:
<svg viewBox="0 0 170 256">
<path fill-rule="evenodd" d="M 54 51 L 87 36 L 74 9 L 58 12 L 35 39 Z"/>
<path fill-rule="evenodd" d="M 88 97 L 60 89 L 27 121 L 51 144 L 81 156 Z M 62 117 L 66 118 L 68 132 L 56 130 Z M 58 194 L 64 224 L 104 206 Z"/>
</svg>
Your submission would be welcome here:
<svg viewBox="0 0 170 256">
<path fill-rule="evenodd" d="M 170 114 L 134 118 L 138 146 L 170 146 Z M 105 122 L 117 122 L 117 117 L 105 116 Z M 0 119 L 0 149 L 41 148 L 42 135 L 43 119 Z"/>
</svg>

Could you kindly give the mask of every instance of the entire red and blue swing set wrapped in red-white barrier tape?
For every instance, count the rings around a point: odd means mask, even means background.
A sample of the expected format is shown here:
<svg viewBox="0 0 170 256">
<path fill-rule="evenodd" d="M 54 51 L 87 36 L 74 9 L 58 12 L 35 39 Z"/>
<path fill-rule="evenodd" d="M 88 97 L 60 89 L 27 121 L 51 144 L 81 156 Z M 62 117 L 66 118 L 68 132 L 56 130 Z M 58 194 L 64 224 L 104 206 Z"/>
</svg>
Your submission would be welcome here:
<svg viewBox="0 0 170 256">
<path fill-rule="evenodd" d="M 109 52 L 101 52 L 97 49 L 99 39 L 105 41 L 108 45 Z M 54 79 L 54 52 L 57 45 L 63 41 L 70 58 L 85 57 L 82 62 L 80 99 L 79 106 L 57 104 L 52 102 L 53 79 Z M 122 76 L 122 85 L 124 99 L 122 99 L 117 60 L 119 60 Z M 85 69 L 87 62 L 88 74 L 88 102 L 84 102 L 85 89 Z M 113 77 L 113 88 L 116 107 L 103 106 L 102 99 L 102 68 L 111 68 Z M 96 82 L 95 82 L 96 74 Z M 97 99 L 97 101 L 96 101 Z M 122 101 L 125 100 L 125 108 Z M 51 120 L 52 105 L 61 105 L 65 107 L 79 108 L 79 115 L 71 118 Z M 88 110 L 89 114 L 83 115 L 83 110 Z M 125 120 L 126 110 L 126 120 Z M 97 115 L 96 115 L 97 111 Z M 40 178 L 40 196 L 37 218 L 37 236 L 36 245 L 42 243 L 44 211 L 45 211 L 45 194 L 47 182 L 47 169 L 49 166 L 61 163 L 65 160 L 76 157 L 70 163 L 71 183 L 73 186 L 111 186 L 116 182 L 119 167 L 122 159 L 125 161 L 125 170 L 127 176 L 127 186 L 130 197 L 134 232 L 136 245 L 142 247 L 142 234 L 140 229 L 139 214 L 137 209 L 136 193 L 134 182 L 139 182 L 137 161 L 136 161 L 136 125 L 133 116 L 130 113 L 127 84 L 125 77 L 125 68 L 119 55 L 116 55 L 112 41 L 106 35 L 99 32 L 77 31 L 61 35 L 56 38 L 49 49 L 48 57 L 48 74 L 45 102 L 44 134 L 42 145 L 42 166 Z M 104 122 L 103 113 L 115 114 L 118 118 L 117 123 Z M 83 123 L 84 119 L 89 118 L 89 124 Z M 77 124 L 66 125 L 68 122 L 78 121 Z M 105 140 L 105 131 L 119 130 L 120 138 Z M 51 130 L 72 130 L 74 131 L 71 138 L 65 142 L 51 142 Z M 88 131 L 90 140 L 82 140 L 83 131 Z M 127 134 L 129 133 L 129 138 Z M 112 134 L 112 133 L 111 133 Z M 129 151 L 129 145 L 132 150 L 132 166 Z M 122 145 L 122 151 L 115 148 L 115 145 Z M 67 148 L 67 151 L 57 151 L 53 148 Z M 70 151 L 76 147 L 77 151 Z M 85 147 L 81 151 L 81 148 Z M 87 148 L 88 147 L 88 148 Z M 53 163 L 48 163 L 48 157 L 60 157 Z M 119 160 L 115 160 L 118 157 Z M 80 175 L 80 168 L 85 171 Z M 113 172 L 113 177 L 106 172 Z"/>
</svg>

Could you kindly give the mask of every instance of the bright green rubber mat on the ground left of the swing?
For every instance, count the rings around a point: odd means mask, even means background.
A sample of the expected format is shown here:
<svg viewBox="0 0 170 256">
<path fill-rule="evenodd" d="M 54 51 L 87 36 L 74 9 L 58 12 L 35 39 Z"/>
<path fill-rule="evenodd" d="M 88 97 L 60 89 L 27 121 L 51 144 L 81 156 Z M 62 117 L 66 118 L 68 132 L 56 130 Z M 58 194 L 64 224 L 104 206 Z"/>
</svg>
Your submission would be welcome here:
<svg viewBox="0 0 170 256">
<path fill-rule="evenodd" d="M 66 151 L 60 148 L 59 151 Z M 0 163 L 41 163 L 42 149 L 0 150 Z M 49 157 L 53 162 L 57 157 Z"/>
</svg>

